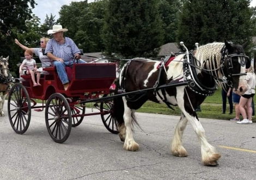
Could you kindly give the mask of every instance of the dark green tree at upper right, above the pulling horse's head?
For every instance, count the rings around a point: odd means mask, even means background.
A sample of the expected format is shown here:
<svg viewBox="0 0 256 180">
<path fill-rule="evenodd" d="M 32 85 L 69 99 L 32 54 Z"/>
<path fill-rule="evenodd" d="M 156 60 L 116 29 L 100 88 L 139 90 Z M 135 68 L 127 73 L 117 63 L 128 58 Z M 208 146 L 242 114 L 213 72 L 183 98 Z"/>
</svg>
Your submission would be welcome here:
<svg viewBox="0 0 256 180">
<path fill-rule="evenodd" d="M 179 14 L 176 41 L 184 41 L 189 49 L 224 40 L 242 44 L 251 40 L 255 29 L 251 0 L 184 1 Z"/>
</svg>

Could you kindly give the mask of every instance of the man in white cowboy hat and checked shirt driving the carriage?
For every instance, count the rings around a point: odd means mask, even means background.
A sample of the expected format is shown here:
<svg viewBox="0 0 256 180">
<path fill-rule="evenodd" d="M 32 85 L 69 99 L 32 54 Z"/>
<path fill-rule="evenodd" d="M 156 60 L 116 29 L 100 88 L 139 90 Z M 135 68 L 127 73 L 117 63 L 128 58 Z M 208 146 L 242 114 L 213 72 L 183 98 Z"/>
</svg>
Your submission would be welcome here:
<svg viewBox="0 0 256 180">
<path fill-rule="evenodd" d="M 80 59 L 80 50 L 75 42 L 63 36 L 63 32 L 68 29 L 62 28 L 62 25 L 53 25 L 52 29 L 48 30 L 48 34 L 53 34 L 53 38 L 48 41 L 45 49 L 45 54 L 52 60 L 56 67 L 60 80 L 66 91 L 69 88 L 69 79 L 66 75 L 65 66 L 73 66 L 74 58 Z M 78 60 L 77 63 L 86 63 L 83 60 Z"/>
</svg>

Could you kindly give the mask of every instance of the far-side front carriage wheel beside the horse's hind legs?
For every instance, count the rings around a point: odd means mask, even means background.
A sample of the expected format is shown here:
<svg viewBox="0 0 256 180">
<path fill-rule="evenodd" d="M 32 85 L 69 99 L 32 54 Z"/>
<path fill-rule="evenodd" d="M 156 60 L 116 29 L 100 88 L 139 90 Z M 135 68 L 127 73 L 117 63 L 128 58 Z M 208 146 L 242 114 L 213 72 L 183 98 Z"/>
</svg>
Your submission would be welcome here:
<svg viewBox="0 0 256 180">
<path fill-rule="evenodd" d="M 103 97 L 111 96 L 104 95 Z M 119 131 L 117 130 L 117 120 L 114 117 L 114 110 L 113 110 L 113 101 L 101 102 L 100 103 L 100 111 L 108 111 L 107 114 L 101 114 L 101 119 L 103 125 L 107 128 L 107 130 L 113 134 L 118 134 Z"/>
</svg>

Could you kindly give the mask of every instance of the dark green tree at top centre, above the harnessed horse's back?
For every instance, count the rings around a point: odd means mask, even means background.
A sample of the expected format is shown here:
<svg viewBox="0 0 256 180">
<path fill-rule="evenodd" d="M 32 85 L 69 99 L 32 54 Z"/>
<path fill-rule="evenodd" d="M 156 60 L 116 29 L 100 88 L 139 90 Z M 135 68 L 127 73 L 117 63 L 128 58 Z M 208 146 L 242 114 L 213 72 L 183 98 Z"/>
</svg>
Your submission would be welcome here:
<svg viewBox="0 0 256 180">
<path fill-rule="evenodd" d="M 109 0 L 103 29 L 105 54 L 151 57 L 163 43 L 157 0 Z"/>
</svg>

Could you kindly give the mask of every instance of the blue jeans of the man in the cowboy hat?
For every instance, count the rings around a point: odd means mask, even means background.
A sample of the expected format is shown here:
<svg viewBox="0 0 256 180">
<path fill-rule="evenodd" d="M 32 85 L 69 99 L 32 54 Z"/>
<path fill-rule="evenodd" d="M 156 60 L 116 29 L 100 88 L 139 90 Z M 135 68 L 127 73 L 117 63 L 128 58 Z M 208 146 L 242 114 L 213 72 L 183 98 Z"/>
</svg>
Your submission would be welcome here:
<svg viewBox="0 0 256 180">
<path fill-rule="evenodd" d="M 75 64 L 84 64 L 86 63 L 86 61 L 83 60 L 75 60 Z M 64 63 L 60 62 L 60 61 L 53 61 L 52 64 L 56 67 L 58 75 L 60 80 L 62 81 L 62 84 L 66 84 L 69 83 L 69 78 L 68 75 L 66 75 L 66 71 L 65 71 L 65 66 L 70 66 L 73 67 L 74 61 L 70 60 L 70 61 L 64 61 Z"/>
</svg>

